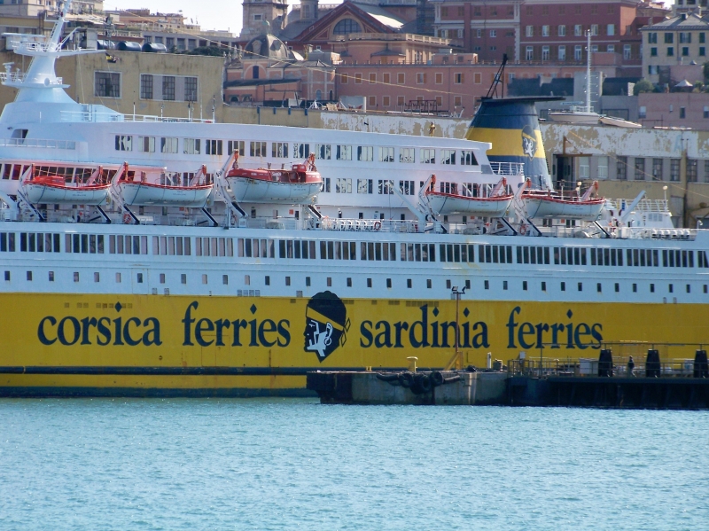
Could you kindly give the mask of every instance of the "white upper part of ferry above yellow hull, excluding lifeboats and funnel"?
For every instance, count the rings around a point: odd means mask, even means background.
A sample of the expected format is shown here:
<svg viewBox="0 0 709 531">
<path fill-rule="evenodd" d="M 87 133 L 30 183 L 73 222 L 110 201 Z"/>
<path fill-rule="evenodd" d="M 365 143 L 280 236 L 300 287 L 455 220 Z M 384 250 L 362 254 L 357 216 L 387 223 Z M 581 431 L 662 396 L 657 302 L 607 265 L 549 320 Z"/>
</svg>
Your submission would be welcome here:
<svg viewBox="0 0 709 531">
<path fill-rule="evenodd" d="M 19 88 L 0 116 L 7 207 L 0 214 L 16 222 L 0 227 L 4 291 L 308 297 L 337 287 L 342 297 L 428 300 L 467 285 L 481 301 L 709 301 L 709 238 L 670 228 L 666 203 L 609 201 L 604 223 L 583 226 L 530 227 L 518 198 L 500 218 L 436 216 L 422 200 L 433 175 L 436 191 L 470 197 L 502 176 L 514 193 L 525 176 L 491 164 L 490 144 L 467 140 L 186 121 L 77 104 L 54 74 L 58 56 L 77 53 L 60 50 L 62 22 L 49 43 L 17 44 L 34 58 L 27 74 L 2 75 Z M 247 168 L 290 168 L 314 153 L 322 191 L 312 205 L 238 202 L 223 178 L 232 152 Z M 100 214 L 21 195 L 32 164 L 63 168 L 68 181 L 126 162 L 158 168 L 170 183 L 186 183 L 205 166 L 215 191 L 201 211 L 179 203 L 131 210 L 113 187 Z"/>
</svg>

